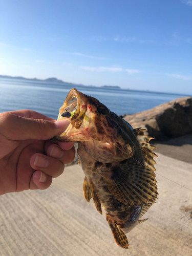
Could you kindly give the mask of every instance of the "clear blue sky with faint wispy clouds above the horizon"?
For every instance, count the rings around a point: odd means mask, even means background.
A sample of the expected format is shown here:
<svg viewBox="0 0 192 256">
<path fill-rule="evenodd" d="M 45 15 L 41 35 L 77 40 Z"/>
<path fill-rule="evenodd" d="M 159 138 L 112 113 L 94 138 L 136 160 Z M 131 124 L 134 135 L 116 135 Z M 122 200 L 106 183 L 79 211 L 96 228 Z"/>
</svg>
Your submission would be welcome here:
<svg viewBox="0 0 192 256">
<path fill-rule="evenodd" d="M 192 1 L 0 0 L 0 74 L 192 94 Z"/>
</svg>

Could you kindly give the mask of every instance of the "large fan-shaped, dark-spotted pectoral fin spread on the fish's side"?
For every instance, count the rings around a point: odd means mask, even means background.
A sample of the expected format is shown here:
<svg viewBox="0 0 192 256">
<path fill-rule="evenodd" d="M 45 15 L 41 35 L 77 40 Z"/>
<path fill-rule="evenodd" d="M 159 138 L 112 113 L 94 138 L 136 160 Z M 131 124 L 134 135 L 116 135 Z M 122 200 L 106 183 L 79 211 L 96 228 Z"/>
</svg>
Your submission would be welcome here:
<svg viewBox="0 0 192 256">
<path fill-rule="evenodd" d="M 102 173 L 111 193 L 125 205 L 152 205 L 157 198 L 153 170 L 140 164 L 118 165 L 113 172 Z"/>
</svg>

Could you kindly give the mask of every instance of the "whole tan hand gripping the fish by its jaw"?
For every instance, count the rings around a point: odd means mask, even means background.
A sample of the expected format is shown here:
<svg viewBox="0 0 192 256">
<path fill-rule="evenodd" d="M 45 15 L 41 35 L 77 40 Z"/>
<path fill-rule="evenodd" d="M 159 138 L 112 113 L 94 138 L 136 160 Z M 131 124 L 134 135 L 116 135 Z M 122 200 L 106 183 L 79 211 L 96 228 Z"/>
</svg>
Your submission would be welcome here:
<svg viewBox="0 0 192 256">
<path fill-rule="evenodd" d="M 46 189 L 73 161 L 71 142 L 52 142 L 68 120 L 30 110 L 0 113 L 0 195 L 26 189 Z"/>
</svg>

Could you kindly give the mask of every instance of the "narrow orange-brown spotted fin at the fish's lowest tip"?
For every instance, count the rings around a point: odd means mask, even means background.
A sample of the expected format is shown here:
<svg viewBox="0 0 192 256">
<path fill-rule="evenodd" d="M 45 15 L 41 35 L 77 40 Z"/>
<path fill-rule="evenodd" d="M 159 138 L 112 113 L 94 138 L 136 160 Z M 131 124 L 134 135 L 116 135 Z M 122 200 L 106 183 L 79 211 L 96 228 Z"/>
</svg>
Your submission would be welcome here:
<svg viewBox="0 0 192 256">
<path fill-rule="evenodd" d="M 121 230 L 121 228 L 115 223 L 115 221 L 110 218 L 109 215 L 106 215 L 106 221 L 108 222 L 111 231 L 113 233 L 113 237 L 117 245 L 122 248 L 128 249 L 129 243 L 126 237 L 126 234 Z"/>
</svg>

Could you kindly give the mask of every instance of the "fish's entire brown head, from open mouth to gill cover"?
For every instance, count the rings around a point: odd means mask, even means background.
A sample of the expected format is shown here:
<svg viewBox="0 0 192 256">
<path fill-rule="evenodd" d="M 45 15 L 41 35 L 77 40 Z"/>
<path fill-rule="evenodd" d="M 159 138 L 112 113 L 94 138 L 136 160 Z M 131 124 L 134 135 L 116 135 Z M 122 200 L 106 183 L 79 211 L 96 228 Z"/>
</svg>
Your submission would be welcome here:
<svg viewBox="0 0 192 256">
<path fill-rule="evenodd" d="M 97 161 L 115 162 L 135 153 L 132 126 L 97 99 L 71 89 L 59 110 L 57 120 L 70 119 L 66 131 L 53 140 L 78 141 Z"/>
</svg>

